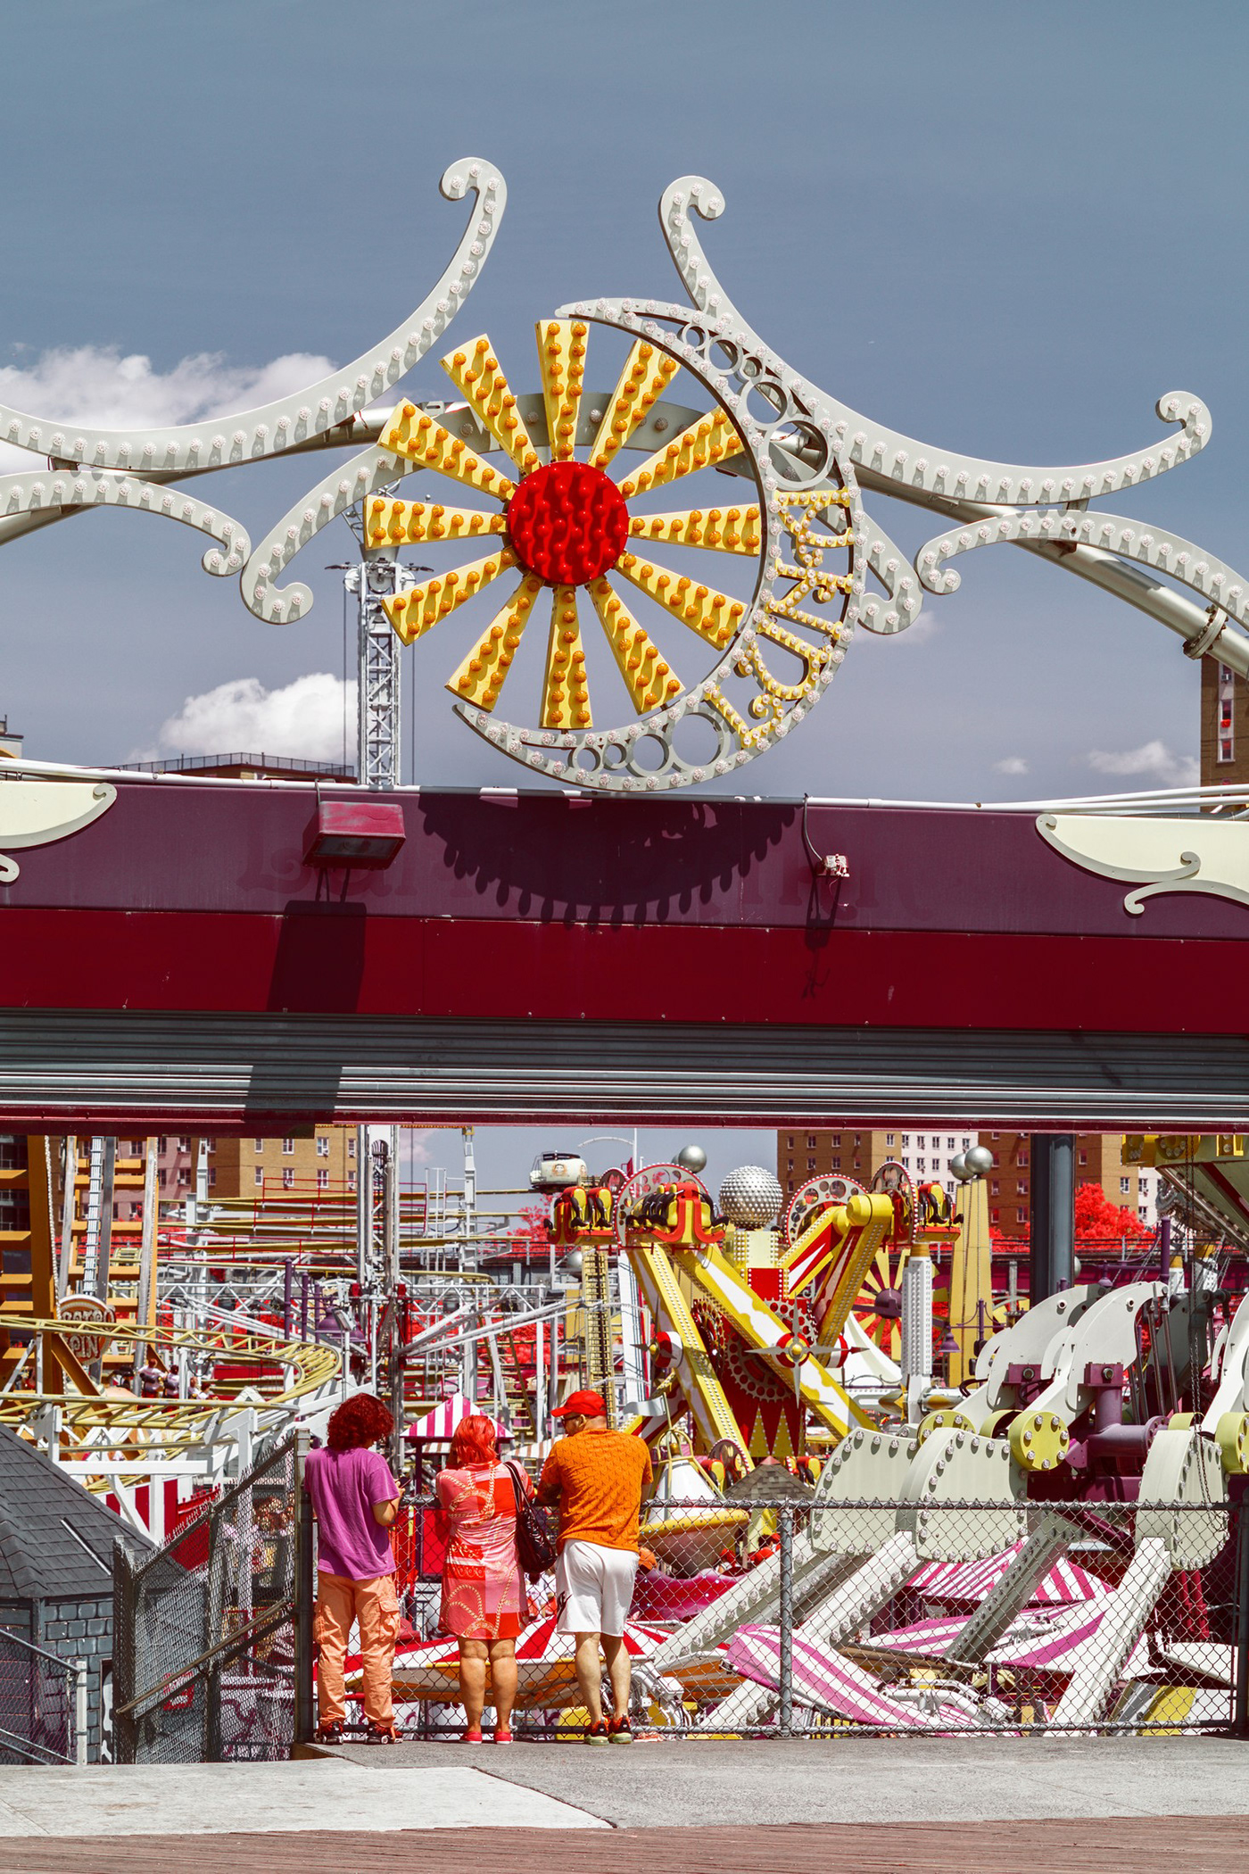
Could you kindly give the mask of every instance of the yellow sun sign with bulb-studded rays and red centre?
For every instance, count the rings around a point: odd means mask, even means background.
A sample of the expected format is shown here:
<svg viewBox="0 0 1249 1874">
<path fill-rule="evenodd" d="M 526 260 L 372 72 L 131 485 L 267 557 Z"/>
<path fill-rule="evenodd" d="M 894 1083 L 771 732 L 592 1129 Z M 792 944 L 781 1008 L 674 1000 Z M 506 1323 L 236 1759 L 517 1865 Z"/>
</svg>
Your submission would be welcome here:
<svg viewBox="0 0 1249 1874">
<path fill-rule="evenodd" d="M 399 405 L 382 431 L 384 450 L 494 500 L 494 512 L 429 500 L 365 500 L 367 547 L 418 542 L 478 547 L 478 557 L 464 564 L 384 600 L 404 645 L 423 637 L 500 575 L 515 575 L 502 607 L 448 682 L 453 695 L 479 710 L 489 712 L 498 703 L 534 607 L 549 590 L 539 721 L 543 729 L 573 733 L 594 723 L 579 594 L 588 594 L 633 710 L 644 716 L 672 703 L 685 686 L 629 609 L 627 588 L 650 598 L 719 654 L 734 643 L 747 613 L 743 600 L 657 560 L 654 545 L 758 558 L 764 538 L 757 504 L 665 513 L 635 513 L 629 508 L 637 495 L 742 454 L 742 437 L 723 409 L 697 416 L 620 480 L 609 474 L 618 452 L 680 369 L 648 339 L 633 343 L 588 444 L 588 459 L 577 459 L 586 339 L 582 320 L 549 319 L 537 324 L 547 461 L 530 437 L 489 337 L 470 339 L 442 365 L 500 444 L 513 472 L 483 461 L 463 437 L 453 437 L 436 416 L 418 410 L 414 403 Z M 835 502 L 839 491 L 828 491 L 826 498 Z M 798 568 L 794 577 L 800 577 Z M 783 643 L 786 633 L 773 626 L 770 635 Z"/>
</svg>

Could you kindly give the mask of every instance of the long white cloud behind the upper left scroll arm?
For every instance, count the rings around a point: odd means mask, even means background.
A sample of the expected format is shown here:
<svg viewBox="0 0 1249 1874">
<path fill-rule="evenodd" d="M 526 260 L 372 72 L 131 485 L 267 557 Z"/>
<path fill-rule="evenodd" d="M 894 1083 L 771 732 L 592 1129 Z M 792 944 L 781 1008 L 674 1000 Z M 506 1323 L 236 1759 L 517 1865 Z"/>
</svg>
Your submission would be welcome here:
<svg viewBox="0 0 1249 1874">
<path fill-rule="evenodd" d="M 154 371 L 142 352 L 116 345 L 66 345 L 32 364 L 0 365 L 0 403 L 64 427 L 161 429 L 217 412 L 251 410 L 316 382 L 328 358 L 287 352 L 260 365 L 228 365 L 223 352 L 193 352 L 170 371 Z M 0 444 L 0 472 L 30 468 L 39 457 Z"/>
</svg>

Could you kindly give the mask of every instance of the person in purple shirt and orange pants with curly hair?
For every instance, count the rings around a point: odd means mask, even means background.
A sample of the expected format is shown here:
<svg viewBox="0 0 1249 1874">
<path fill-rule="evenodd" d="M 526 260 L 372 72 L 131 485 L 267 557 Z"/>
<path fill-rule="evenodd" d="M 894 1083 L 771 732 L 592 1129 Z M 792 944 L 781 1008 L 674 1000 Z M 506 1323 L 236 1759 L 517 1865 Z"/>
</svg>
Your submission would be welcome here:
<svg viewBox="0 0 1249 1874">
<path fill-rule="evenodd" d="M 380 1450 L 395 1420 L 371 1392 L 343 1400 L 330 1417 L 326 1445 L 309 1450 L 303 1482 L 316 1516 L 318 1726 L 322 1743 L 343 1743 L 345 1662 L 352 1623 L 360 1625 L 367 1743 L 393 1745 L 391 1673 L 399 1636 L 395 1552 L 389 1529 L 399 1484 Z"/>
</svg>

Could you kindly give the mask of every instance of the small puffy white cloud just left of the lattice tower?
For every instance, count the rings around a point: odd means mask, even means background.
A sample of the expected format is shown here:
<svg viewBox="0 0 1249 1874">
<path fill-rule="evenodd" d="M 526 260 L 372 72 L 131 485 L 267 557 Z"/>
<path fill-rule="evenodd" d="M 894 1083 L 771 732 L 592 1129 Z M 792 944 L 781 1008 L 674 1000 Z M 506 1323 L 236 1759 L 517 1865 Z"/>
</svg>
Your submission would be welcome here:
<svg viewBox="0 0 1249 1874">
<path fill-rule="evenodd" d="M 305 761 L 343 759 L 346 714 L 348 759 L 356 742 L 356 684 L 328 671 L 296 677 L 285 690 L 266 690 L 258 677 L 236 677 L 198 697 L 187 697 L 161 723 L 159 746 L 170 755 L 298 755 Z"/>
</svg>

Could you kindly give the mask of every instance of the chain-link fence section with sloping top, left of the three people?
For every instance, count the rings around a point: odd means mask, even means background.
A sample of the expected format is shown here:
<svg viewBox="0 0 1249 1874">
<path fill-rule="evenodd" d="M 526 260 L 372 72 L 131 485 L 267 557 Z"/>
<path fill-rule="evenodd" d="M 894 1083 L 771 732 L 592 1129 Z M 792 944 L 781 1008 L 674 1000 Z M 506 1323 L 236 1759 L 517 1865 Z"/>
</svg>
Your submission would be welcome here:
<svg viewBox="0 0 1249 1874">
<path fill-rule="evenodd" d="M 300 1439 L 262 1458 L 155 1555 L 135 1563 L 118 1544 L 116 1760 L 290 1756 L 307 1732 L 309 1576 Z"/>
</svg>

